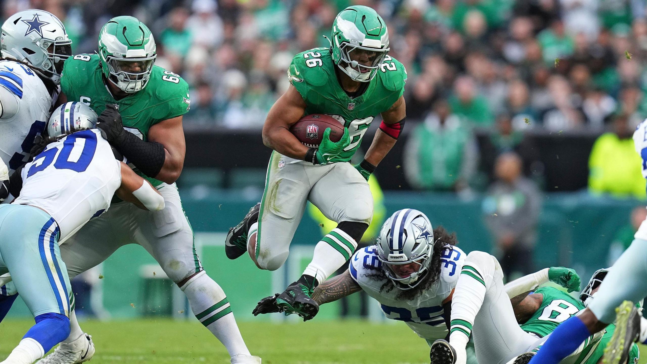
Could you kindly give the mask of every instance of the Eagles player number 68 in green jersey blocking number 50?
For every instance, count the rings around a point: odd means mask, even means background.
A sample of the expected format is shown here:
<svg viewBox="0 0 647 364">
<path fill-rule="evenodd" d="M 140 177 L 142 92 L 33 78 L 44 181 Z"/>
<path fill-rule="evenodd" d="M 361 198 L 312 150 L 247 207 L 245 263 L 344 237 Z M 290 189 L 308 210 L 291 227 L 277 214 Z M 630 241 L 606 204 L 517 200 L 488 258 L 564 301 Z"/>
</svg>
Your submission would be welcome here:
<svg viewBox="0 0 647 364">
<path fill-rule="evenodd" d="M 98 54 L 78 54 L 65 62 L 61 91 L 67 100 L 88 104 L 100 114 L 97 128 L 135 172 L 157 187 L 166 208 L 148 212 L 113 200 L 105 214 L 61 247 L 70 277 L 103 262 L 122 245 L 142 245 L 184 292 L 195 317 L 225 345 L 232 363 L 261 363 L 245 346 L 225 292 L 203 270 L 175 186 L 184 164 L 182 115 L 190 108 L 188 85 L 153 64 L 155 40 L 135 17 L 110 19 L 98 43 Z M 81 363 L 93 354 L 90 336 L 71 314 L 70 336 L 41 364 Z"/>
</svg>

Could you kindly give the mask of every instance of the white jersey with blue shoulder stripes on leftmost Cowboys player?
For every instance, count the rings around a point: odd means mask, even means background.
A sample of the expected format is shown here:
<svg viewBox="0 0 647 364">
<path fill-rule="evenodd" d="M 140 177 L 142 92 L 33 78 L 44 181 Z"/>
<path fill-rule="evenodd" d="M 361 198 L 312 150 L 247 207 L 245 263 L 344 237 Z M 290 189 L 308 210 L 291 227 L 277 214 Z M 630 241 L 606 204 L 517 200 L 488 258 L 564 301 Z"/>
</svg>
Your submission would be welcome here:
<svg viewBox="0 0 647 364">
<path fill-rule="evenodd" d="M 32 69 L 9 60 L 0 61 L 0 87 L 10 91 L 19 105 L 14 117 L 0 119 L 0 159 L 9 170 L 16 170 L 27 161 L 36 135 L 45 130 L 52 95 Z"/>
</svg>

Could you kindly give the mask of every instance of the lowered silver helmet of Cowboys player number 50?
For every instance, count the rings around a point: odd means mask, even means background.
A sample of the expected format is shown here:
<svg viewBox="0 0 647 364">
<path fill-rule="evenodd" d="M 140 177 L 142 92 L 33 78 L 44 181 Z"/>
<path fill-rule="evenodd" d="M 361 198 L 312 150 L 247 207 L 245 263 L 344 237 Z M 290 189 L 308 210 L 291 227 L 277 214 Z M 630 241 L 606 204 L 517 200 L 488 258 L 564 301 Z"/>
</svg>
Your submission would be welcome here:
<svg viewBox="0 0 647 364">
<path fill-rule="evenodd" d="M 66 102 L 52 111 L 47 123 L 47 135 L 52 138 L 71 133 L 73 129 L 94 129 L 96 113 L 83 102 Z"/>
</svg>

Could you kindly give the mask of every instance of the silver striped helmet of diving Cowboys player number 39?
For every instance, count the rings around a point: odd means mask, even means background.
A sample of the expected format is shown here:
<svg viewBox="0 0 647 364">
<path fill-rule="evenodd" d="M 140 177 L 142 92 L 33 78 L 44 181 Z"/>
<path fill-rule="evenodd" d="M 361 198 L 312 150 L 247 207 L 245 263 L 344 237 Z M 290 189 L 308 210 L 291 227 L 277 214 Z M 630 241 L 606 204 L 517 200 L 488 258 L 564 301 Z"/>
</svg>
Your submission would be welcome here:
<svg viewBox="0 0 647 364">
<path fill-rule="evenodd" d="M 396 211 L 382 225 L 377 240 L 378 259 L 386 277 L 400 290 L 410 290 L 421 282 L 433 253 L 433 227 L 419 210 Z M 413 271 L 400 275 L 398 266 L 414 264 Z"/>
</svg>

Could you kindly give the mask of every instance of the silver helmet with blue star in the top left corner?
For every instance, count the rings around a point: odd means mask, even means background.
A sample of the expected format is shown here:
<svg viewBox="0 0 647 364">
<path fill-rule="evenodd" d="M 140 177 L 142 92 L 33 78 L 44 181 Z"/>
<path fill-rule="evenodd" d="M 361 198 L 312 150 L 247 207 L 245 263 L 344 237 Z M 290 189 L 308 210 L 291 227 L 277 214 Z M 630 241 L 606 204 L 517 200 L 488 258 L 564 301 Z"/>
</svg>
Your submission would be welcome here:
<svg viewBox="0 0 647 364">
<path fill-rule="evenodd" d="M 72 55 L 72 41 L 54 14 L 38 9 L 17 12 L 2 25 L 1 42 L 3 57 L 25 62 L 60 84 L 63 62 Z"/>
</svg>

